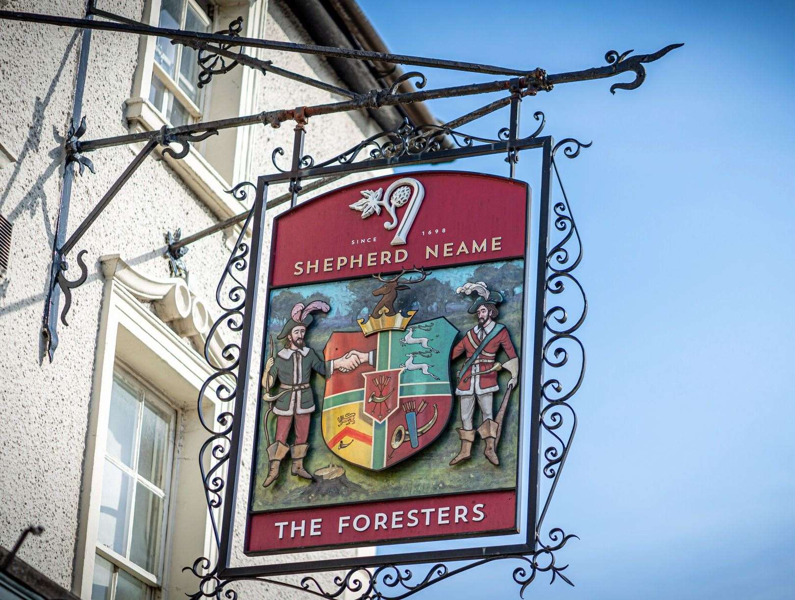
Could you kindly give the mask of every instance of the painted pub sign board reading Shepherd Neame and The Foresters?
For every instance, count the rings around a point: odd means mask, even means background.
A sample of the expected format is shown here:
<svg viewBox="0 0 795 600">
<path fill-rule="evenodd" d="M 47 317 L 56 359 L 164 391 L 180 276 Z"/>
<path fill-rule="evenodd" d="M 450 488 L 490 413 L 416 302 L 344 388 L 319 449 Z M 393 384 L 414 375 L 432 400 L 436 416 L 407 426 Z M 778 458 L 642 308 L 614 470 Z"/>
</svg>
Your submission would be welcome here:
<svg viewBox="0 0 795 600">
<path fill-rule="evenodd" d="M 518 531 L 528 220 L 460 172 L 274 219 L 247 553 Z"/>
</svg>

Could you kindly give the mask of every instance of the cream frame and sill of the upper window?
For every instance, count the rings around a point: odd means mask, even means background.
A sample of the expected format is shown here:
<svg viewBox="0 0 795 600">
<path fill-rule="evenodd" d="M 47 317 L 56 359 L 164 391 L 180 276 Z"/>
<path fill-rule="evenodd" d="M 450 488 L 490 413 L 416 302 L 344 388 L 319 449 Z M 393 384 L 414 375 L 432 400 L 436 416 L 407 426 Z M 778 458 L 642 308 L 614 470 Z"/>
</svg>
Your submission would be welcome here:
<svg viewBox="0 0 795 600">
<path fill-rule="evenodd" d="M 188 0 L 192 2 L 192 0 Z M 210 25 L 211 31 L 226 29 L 229 21 L 242 15 L 243 30 L 246 37 L 264 37 L 267 17 L 267 0 L 214 0 L 215 16 Z M 145 25 L 157 26 L 160 20 L 161 0 L 145 0 L 142 22 Z M 234 14 L 234 17 L 231 15 Z M 149 91 L 152 78 L 157 77 L 160 69 L 155 60 L 157 37 L 141 36 L 138 43 L 138 67 L 135 70 L 132 95 L 126 100 L 126 118 L 130 133 L 138 131 L 157 131 L 169 126 L 165 115 L 149 102 Z M 246 52 L 262 58 L 261 50 L 249 48 Z M 262 55 L 262 56 L 261 56 Z M 161 75 L 165 75 L 158 71 Z M 179 73 L 176 74 L 177 77 Z M 165 75 L 168 77 L 168 75 Z M 158 79 L 161 79 L 158 77 Z M 164 79 L 161 79 L 164 81 Z M 232 116 L 233 114 L 254 114 L 257 112 L 258 88 L 265 83 L 265 76 L 256 69 L 236 67 L 231 72 L 214 77 L 204 89 L 204 105 L 193 105 L 200 110 L 203 120 Z M 178 88 L 178 87 L 177 87 Z M 177 89 L 181 94 L 182 92 Z M 212 98 L 223 98 L 221 103 L 213 103 Z M 190 100 L 187 96 L 186 100 Z M 219 105 L 219 106 L 215 106 Z M 213 112 L 215 108 L 220 111 Z M 223 110 L 222 110 L 223 109 Z M 202 200 L 218 219 L 228 219 L 242 212 L 241 203 L 225 191 L 234 184 L 250 179 L 250 168 L 253 158 L 252 137 L 249 128 L 237 127 L 223 130 L 218 136 L 212 136 L 204 142 L 205 147 L 222 145 L 219 153 L 233 157 L 231 166 L 224 169 L 222 175 L 211 161 L 200 153 L 195 145 L 191 145 L 188 156 L 183 159 L 163 155 L 163 160 L 173 168 L 174 172 Z M 178 147 L 176 147 L 178 149 Z M 162 150 L 162 149 L 161 149 Z M 235 231 L 239 231 L 237 226 Z"/>
</svg>

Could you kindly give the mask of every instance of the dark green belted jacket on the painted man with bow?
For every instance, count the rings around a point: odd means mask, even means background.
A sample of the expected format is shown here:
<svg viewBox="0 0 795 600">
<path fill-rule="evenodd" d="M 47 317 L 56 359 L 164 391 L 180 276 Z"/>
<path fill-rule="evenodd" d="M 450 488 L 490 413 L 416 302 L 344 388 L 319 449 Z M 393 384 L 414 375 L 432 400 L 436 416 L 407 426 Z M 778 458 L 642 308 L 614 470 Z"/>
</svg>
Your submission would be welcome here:
<svg viewBox="0 0 795 600">
<path fill-rule="evenodd" d="M 309 377 L 312 371 L 325 377 L 326 363 L 309 346 L 301 350 L 282 348 L 273 359 L 270 374 L 276 378 L 276 385 L 268 390 L 272 396 L 278 396 L 273 402 L 273 412 L 282 416 L 314 412 L 315 397 Z"/>
</svg>

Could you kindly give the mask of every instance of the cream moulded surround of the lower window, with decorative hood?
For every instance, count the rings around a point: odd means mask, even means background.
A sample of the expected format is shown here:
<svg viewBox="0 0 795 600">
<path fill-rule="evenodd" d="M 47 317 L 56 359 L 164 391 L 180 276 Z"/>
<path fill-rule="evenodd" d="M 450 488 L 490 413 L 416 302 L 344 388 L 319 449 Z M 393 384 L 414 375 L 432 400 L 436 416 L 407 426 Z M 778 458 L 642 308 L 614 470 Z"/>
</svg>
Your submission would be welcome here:
<svg viewBox="0 0 795 600">
<path fill-rule="evenodd" d="M 114 269 L 126 269 L 125 273 L 129 273 L 130 269 L 118 260 L 118 255 L 111 257 L 110 263 L 108 257 L 103 258 L 106 260 L 103 269 L 113 263 L 118 264 Z M 207 432 L 198 425 L 196 399 L 204 381 L 214 371 L 187 340 L 162 320 L 168 318 L 167 315 L 158 316 L 142 303 L 141 300 L 145 300 L 149 293 L 149 290 L 144 289 L 146 285 L 168 285 L 167 282 L 139 277 L 141 287 L 134 289 L 122 283 L 114 273 L 106 273 L 106 277 L 83 468 L 73 591 L 81 598 L 91 598 L 95 556 L 99 554 L 155 587 L 153 597 L 157 597 L 158 593 L 162 597 L 162 594 L 168 595 L 180 586 L 195 586 L 195 576 L 183 573 L 181 567 L 192 564 L 196 556 L 212 558 L 216 552 L 200 478 L 193 470 L 185 471 L 184 476 L 180 474 L 180 465 L 196 465 L 197 448 L 207 438 Z M 134 280 L 134 277 L 130 279 Z M 173 285 L 184 285 L 182 280 L 172 281 Z M 180 293 L 181 288 L 174 289 L 177 294 Z M 167 405 L 177 412 L 169 507 L 165 511 L 168 517 L 161 531 L 162 538 L 168 541 L 161 549 L 160 578 L 153 578 L 138 565 L 98 543 L 107 427 L 114 370 L 118 366 L 134 372 L 139 380 L 145 379 L 149 384 L 146 387 L 168 398 Z M 216 385 L 217 382 L 206 390 L 203 402 L 205 418 L 207 422 L 213 423 L 215 416 L 223 412 L 222 405 L 215 398 Z M 187 519 L 190 521 L 185 521 Z M 201 525 L 202 519 L 204 527 Z"/>
</svg>

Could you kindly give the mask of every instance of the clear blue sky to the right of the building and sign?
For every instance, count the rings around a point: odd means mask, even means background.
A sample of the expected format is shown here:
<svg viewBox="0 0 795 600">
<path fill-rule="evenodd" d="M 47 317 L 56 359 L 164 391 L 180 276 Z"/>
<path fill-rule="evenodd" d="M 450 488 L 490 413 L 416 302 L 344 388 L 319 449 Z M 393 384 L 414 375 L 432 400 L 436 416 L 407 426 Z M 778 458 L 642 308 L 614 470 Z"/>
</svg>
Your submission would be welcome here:
<svg viewBox="0 0 795 600">
<path fill-rule="evenodd" d="M 795 6 L 374 2 L 395 52 L 564 72 L 607 50 L 684 48 L 523 103 L 524 132 L 593 141 L 560 160 L 585 247 L 588 372 L 547 527 L 576 533 L 525 598 L 795 597 Z M 423 70 L 429 87 L 491 76 Z M 629 80 L 622 75 L 620 80 Z M 496 96 L 432 103 L 452 119 Z M 461 129 L 494 137 L 502 110 Z M 445 168 L 451 168 L 446 165 Z M 454 168 L 506 174 L 502 157 Z M 537 161 L 518 177 L 536 185 Z M 417 598 L 518 598 L 506 561 Z"/>
</svg>

